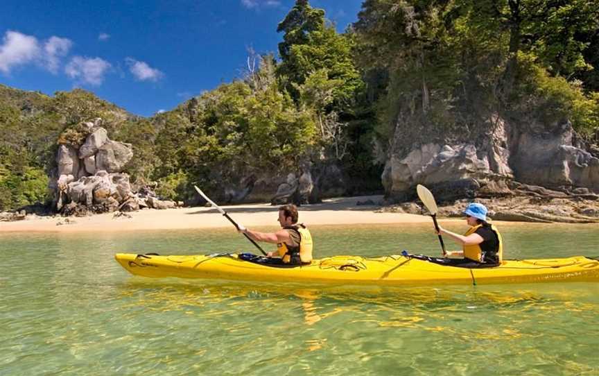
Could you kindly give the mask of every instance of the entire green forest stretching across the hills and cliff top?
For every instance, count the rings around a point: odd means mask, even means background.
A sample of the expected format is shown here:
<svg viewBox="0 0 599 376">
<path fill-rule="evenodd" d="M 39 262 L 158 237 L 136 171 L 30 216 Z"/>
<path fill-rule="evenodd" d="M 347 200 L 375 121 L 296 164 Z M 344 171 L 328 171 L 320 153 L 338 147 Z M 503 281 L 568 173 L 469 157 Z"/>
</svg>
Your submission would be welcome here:
<svg viewBox="0 0 599 376">
<path fill-rule="evenodd" d="M 278 51 L 249 51 L 237 80 L 150 118 L 83 89 L 0 85 L 0 210 L 48 203 L 58 144 L 82 142 L 96 117 L 133 145 L 132 182 L 174 200 L 306 164 L 340 166 L 349 194 L 380 191 L 398 119 L 414 143 L 478 137 L 492 114 L 599 140 L 596 0 L 366 0 L 343 33 L 297 0 L 265 27 Z"/>
</svg>

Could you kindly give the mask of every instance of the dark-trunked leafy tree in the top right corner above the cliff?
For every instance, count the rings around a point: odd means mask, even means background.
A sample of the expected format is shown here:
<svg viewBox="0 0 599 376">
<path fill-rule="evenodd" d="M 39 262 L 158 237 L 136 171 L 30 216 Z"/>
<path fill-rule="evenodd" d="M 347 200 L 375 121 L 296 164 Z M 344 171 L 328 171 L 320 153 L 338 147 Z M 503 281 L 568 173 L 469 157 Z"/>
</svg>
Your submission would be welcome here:
<svg viewBox="0 0 599 376">
<path fill-rule="evenodd" d="M 593 69 L 584 51 L 599 28 L 595 0 L 462 0 L 456 4 L 462 14 L 469 13 L 469 26 L 505 35 L 507 63 L 500 83 L 504 101 L 518 79 L 521 54 L 531 55 L 552 76 L 570 78 Z"/>
</svg>

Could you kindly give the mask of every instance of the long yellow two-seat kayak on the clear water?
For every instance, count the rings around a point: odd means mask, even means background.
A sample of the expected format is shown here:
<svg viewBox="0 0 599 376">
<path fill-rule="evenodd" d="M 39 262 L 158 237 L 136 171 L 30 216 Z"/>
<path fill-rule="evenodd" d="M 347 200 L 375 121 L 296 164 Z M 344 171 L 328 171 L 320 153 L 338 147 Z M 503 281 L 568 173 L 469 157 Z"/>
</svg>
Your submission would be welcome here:
<svg viewBox="0 0 599 376">
<path fill-rule="evenodd" d="M 485 268 L 446 266 L 433 262 L 433 257 L 418 255 L 334 256 L 293 267 L 245 261 L 237 254 L 160 256 L 117 253 L 115 258 L 130 273 L 144 277 L 380 286 L 599 281 L 599 261 L 584 256 L 505 260 L 499 266 Z"/>
</svg>

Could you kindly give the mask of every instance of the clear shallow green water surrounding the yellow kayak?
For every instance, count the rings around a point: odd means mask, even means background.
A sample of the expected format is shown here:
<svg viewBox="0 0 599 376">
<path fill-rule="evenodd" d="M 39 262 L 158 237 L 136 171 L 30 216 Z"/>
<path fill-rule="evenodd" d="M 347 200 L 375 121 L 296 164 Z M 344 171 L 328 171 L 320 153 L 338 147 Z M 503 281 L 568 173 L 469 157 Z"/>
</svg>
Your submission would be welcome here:
<svg viewBox="0 0 599 376">
<path fill-rule="evenodd" d="M 599 255 L 596 225 L 501 229 L 509 258 Z M 431 225 L 312 232 L 318 257 L 440 249 Z M 1 234 L 0 375 L 599 375 L 598 284 L 150 280 L 113 258 L 238 250 L 230 229 Z"/>
</svg>

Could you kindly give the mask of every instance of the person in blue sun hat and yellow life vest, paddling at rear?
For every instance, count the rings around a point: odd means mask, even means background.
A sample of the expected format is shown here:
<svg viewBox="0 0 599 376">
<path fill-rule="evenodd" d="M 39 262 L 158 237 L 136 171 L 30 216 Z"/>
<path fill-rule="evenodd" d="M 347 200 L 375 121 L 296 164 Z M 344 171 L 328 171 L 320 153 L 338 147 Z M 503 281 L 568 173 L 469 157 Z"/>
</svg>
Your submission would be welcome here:
<svg viewBox="0 0 599 376">
<path fill-rule="evenodd" d="M 470 203 L 463 212 L 470 226 L 463 234 L 456 234 L 439 226 L 437 234 L 447 235 L 462 245 L 461 251 L 449 252 L 452 264 L 473 263 L 498 265 L 503 259 L 503 239 L 497 228 L 487 222 L 487 207 L 479 203 Z"/>
</svg>

